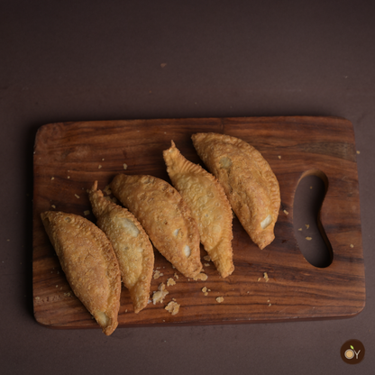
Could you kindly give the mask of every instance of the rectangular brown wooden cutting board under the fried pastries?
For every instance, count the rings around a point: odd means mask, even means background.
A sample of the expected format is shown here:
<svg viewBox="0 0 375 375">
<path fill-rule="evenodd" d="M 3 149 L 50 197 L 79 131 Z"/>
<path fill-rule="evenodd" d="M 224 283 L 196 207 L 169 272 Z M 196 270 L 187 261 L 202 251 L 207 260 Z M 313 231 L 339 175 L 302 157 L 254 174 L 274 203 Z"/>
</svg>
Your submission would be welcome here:
<svg viewBox="0 0 375 375">
<path fill-rule="evenodd" d="M 248 117 L 50 123 L 36 135 L 33 192 L 33 303 L 36 320 L 56 328 L 97 327 L 73 295 L 41 224 L 41 212 L 77 215 L 91 210 L 87 188 L 104 189 L 118 173 L 150 174 L 169 181 L 162 151 L 173 140 L 181 153 L 203 164 L 191 135 L 225 133 L 261 151 L 279 179 L 281 208 L 276 239 L 259 250 L 233 219 L 233 274 L 222 279 L 213 263 L 206 281 L 186 279 L 155 250 L 151 292 L 174 278 L 162 304 L 133 313 L 123 288 L 119 326 L 279 322 L 355 316 L 365 304 L 361 216 L 352 123 L 335 117 Z M 127 169 L 123 169 L 123 164 Z M 319 170 L 329 187 L 320 218 L 333 249 L 329 267 L 312 266 L 300 252 L 293 201 L 304 173 Z M 286 214 L 288 213 L 288 215 Z M 92 214 L 86 216 L 95 223 Z M 202 257 L 206 255 L 201 250 Z M 207 263 L 206 261 L 202 261 Z M 267 272 L 269 280 L 263 278 Z M 178 274 L 178 279 L 174 276 Z M 208 295 L 202 288 L 210 289 Z M 224 297 L 222 303 L 216 297 Z M 180 304 L 171 316 L 164 307 Z"/>
</svg>

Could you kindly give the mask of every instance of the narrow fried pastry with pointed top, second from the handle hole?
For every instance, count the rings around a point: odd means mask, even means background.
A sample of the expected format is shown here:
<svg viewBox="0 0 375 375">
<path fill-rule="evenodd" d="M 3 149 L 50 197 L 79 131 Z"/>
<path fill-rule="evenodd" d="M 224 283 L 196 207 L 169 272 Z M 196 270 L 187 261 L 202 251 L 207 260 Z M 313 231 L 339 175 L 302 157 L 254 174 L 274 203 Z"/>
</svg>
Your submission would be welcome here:
<svg viewBox="0 0 375 375">
<path fill-rule="evenodd" d="M 196 219 L 200 241 L 223 278 L 233 270 L 232 208 L 217 179 L 186 160 L 175 143 L 163 151 L 169 178 Z"/>
</svg>

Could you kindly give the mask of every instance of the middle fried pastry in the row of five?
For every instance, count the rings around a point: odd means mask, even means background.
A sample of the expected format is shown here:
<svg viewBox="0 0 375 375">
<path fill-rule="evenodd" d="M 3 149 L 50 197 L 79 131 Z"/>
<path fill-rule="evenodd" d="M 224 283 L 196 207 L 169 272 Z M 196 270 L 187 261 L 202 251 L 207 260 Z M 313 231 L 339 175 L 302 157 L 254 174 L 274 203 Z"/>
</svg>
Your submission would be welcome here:
<svg viewBox="0 0 375 375">
<path fill-rule="evenodd" d="M 194 278 L 202 269 L 199 233 L 178 191 L 160 178 L 123 174 L 115 176 L 111 189 L 159 252 L 184 276 Z"/>
</svg>

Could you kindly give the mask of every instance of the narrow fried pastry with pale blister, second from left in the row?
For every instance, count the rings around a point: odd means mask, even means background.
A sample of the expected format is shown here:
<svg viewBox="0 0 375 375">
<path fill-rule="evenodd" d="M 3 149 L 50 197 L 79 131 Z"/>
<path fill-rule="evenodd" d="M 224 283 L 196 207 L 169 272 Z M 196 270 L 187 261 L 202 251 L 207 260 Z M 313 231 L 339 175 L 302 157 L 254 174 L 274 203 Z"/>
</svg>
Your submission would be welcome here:
<svg viewBox="0 0 375 375">
<path fill-rule="evenodd" d="M 134 312 L 147 306 L 154 255 L 148 235 L 126 208 L 105 199 L 97 190 L 97 181 L 88 193 L 96 225 L 112 242 L 120 266 L 123 284 L 129 289 Z"/>
</svg>

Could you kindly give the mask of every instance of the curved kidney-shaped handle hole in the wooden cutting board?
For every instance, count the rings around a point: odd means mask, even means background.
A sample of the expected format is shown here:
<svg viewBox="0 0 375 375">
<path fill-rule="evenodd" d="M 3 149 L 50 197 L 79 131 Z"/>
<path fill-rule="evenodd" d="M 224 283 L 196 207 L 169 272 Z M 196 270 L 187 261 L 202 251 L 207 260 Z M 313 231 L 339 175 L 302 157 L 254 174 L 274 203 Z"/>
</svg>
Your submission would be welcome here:
<svg viewBox="0 0 375 375">
<path fill-rule="evenodd" d="M 319 169 L 307 170 L 298 181 L 293 203 L 293 226 L 299 250 L 312 266 L 328 267 L 333 261 L 331 243 L 320 221 L 328 178 Z"/>
</svg>

